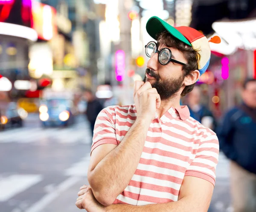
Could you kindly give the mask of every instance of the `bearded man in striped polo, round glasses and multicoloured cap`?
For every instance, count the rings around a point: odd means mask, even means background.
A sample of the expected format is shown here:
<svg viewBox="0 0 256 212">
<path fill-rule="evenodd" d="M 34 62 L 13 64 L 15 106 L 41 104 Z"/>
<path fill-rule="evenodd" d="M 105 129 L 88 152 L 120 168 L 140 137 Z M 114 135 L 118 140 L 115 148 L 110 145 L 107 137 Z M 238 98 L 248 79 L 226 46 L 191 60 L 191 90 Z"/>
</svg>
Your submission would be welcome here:
<svg viewBox="0 0 256 212">
<path fill-rule="evenodd" d="M 158 17 L 146 25 L 157 40 L 134 105 L 99 114 L 88 170 L 76 206 L 88 212 L 206 212 L 215 184 L 218 139 L 189 117 L 180 96 L 204 73 L 210 48 L 203 34 Z M 200 50 L 199 50 L 200 48 Z M 201 57 L 200 57 L 201 56 Z"/>
</svg>

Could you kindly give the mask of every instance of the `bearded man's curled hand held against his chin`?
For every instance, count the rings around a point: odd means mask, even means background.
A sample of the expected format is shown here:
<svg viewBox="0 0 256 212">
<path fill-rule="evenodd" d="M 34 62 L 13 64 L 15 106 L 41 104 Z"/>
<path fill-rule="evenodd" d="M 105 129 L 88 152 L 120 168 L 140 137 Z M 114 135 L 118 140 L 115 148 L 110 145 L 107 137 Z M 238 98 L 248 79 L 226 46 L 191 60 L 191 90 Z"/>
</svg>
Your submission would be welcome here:
<svg viewBox="0 0 256 212">
<path fill-rule="evenodd" d="M 157 89 L 152 88 L 150 82 L 135 81 L 134 102 L 137 118 L 150 119 L 155 117 L 156 109 L 160 107 L 161 99 Z"/>
</svg>

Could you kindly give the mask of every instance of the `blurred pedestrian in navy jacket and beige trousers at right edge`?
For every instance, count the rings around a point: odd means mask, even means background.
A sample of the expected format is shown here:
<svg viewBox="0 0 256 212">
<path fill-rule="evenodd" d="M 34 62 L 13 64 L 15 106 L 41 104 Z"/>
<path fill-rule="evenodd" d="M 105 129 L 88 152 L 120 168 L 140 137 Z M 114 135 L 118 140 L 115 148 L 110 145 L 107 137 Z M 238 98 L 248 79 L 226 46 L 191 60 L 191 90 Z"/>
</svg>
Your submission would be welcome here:
<svg viewBox="0 0 256 212">
<path fill-rule="evenodd" d="M 235 212 L 256 211 L 256 79 L 247 79 L 243 103 L 218 128 L 220 149 L 231 160 L 231 195 Z"/>
</svg>

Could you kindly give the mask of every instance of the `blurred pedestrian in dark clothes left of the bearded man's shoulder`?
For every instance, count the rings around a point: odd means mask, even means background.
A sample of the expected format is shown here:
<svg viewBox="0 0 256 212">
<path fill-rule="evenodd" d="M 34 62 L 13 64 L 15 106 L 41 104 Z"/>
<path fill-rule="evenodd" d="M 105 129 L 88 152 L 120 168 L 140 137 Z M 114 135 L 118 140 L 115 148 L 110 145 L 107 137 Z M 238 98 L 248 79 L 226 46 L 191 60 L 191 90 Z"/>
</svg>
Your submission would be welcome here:
<svg viewBox="0 0 256 212">
<path fill-rule="evenodd" d="M 90 122 L 90 129 L 93 136 L 93 129 L 96 122 L 96 118 L 99 112 L 103 109 L 103 106 L 99 99 L 97 99 L 94 95 L 92 90 L 86 88 L 84 89 L 84 96 L 87 100 L 87 109 L 86 109 L 86 116 L 88 121 Z"/>
</svg>

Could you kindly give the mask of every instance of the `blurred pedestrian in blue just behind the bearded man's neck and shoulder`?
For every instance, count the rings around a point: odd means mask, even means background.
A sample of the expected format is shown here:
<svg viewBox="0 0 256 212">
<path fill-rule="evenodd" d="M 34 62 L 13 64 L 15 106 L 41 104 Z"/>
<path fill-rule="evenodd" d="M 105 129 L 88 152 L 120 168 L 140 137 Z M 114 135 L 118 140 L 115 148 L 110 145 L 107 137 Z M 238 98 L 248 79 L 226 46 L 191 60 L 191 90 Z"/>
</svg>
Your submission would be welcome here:
<svg viewBox="0 0 256 212">
<path fill-rule="evenodd" d="M 195 86 L 195 88 L 188 95 L 190 116 L 203 124 L 205 127 L 208 127 L 214 131 L 216 127 L 216 120 L 208 107 L 201 104 L 201 97 L 201 88 L 199 86 Z"/>
</svg>

